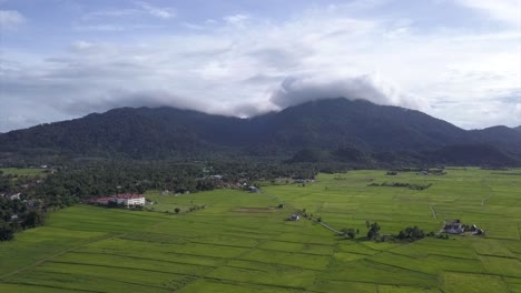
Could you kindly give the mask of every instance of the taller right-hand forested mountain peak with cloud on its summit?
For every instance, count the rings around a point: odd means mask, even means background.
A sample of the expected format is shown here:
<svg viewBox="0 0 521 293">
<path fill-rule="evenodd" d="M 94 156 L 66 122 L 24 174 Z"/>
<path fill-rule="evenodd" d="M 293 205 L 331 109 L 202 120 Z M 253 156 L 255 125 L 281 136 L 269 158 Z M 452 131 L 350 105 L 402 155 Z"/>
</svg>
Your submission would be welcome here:
<svg viewBox="0 0 521 293">
<path fill-rule="evenodd" d="M 286 150 L 336 149 L 353 144 L 371 151 L 433 149 L 465 141 L 466 132 L 419 111 L 366 101 L 331 99 L 254 119 L 266 129 L 259 143 Z"/>
</svg>

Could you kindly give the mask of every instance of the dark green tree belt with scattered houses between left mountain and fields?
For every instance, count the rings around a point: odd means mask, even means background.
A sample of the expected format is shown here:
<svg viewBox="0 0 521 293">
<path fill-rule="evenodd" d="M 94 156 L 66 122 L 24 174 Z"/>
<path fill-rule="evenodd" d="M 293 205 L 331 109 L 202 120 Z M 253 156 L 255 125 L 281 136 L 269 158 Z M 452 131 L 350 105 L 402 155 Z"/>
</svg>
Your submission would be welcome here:
<svg viewBox="0 0 521 293">
<path fill-rule="evenodd" d="M 76 161 L 46 178 L 0 173 L 0 240 L 43 224 L 47 212 L 117 193 L 168 190 L 173 193 L 239 188 L 275 178 L 313 179 L 309 164 L 258 161 Z M 20 200 L 9 195 L 21 192 Z"/>
</svg>

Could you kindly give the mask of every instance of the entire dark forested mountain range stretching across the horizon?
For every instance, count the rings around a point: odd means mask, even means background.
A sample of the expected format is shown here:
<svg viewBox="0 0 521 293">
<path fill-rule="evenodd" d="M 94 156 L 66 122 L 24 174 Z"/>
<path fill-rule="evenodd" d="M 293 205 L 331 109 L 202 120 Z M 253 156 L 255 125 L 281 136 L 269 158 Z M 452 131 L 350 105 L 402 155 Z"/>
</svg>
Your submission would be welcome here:
<svg viewBox="0 0 521 293">
<path fill-rule="evenodd" d="M 515 164 L 521 132 L 465 131 L 425 113 L 367 101 L 312 101 L 250 119 L 174 108 L 121 108 L 0 134 L 1 158 L 277 156 L 299 161 Z M 455 160 L 450 152 L 461 153 Z M 446 155 L 445 155 L 445 154 Z M 434 158 L 435 160 L 431 160 Z"/>
</svg>

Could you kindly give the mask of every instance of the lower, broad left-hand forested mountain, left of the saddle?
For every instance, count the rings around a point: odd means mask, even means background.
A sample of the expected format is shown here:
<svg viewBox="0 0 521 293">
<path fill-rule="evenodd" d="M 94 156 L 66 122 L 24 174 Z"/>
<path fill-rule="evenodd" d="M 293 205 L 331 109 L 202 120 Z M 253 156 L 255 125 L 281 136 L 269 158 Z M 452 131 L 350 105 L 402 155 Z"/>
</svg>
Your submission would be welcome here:
<svg viewBox="0 0 521 293">
<path fill-rule="evenodd" d="M 161 158 L 219 150 L 236 118 L 171 108 L 121 108 L 0 135 L 0 150 L 55 150 L 72 155 Z M 240 122 L 240 121 L 239 121 Z M 240 132 L 240 128 L 235 131 Z M 233 143 L 233 140 L 226 142 Z"/>
</svg>

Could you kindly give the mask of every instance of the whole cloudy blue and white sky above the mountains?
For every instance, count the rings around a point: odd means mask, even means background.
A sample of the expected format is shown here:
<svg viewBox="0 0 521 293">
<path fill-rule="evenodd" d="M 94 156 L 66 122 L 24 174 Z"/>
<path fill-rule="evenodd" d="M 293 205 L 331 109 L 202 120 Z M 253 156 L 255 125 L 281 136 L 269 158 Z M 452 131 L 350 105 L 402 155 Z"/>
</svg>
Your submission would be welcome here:
<svg viewBox="0 0 521 293">
<path fill-rule="evenodd" d="M 0 0 L 0 132 L 337 97 L 521 125 L 521 0 Z"/>
</svg>

